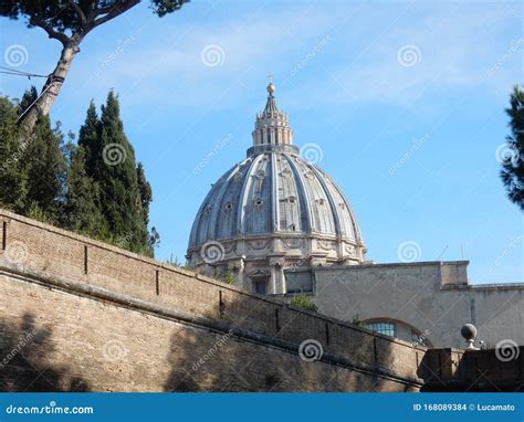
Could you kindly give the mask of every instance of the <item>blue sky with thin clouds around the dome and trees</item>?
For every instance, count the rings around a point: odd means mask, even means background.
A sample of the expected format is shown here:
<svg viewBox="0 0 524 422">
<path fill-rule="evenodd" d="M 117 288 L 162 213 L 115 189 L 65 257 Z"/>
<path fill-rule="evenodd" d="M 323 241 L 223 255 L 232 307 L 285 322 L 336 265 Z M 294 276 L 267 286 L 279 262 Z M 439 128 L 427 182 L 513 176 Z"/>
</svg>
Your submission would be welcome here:
<svg viewBox="0 0 524 422">
<path fill-rule="evenodd" d="M 368 259 L 398 262 L 416 242 L 419 261 L 470 260 L 472 283 L 522 282 L 523 219 L 496 160 L 523 81 L 522 15 L 505 1 L 193 1 L 159 19 L 146 2 L 87 35 L 51 116 L 77 133 L 90 99 L 119 94 L 154 189 L 157 257 L 182 260 L 210 184 L 251 145 L 271 72 L 295 144 L 322 151 Z M 3 65 L 22 45 L 18 70 L 52 71 L 59 42 L 1 24 Z M 6 76 L 0 91 L 20 97 L 31 82 Z"/>
</svg>

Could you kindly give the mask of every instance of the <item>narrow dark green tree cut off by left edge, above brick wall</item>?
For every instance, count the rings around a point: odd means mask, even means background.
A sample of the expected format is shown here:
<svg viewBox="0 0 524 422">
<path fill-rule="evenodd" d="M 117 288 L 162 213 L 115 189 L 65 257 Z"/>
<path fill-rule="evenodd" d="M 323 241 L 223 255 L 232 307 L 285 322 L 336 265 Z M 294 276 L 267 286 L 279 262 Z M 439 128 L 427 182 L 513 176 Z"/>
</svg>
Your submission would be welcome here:
<svg viewBox="0 0 524 422">
<path fill-rule="evenodd" d="M 22 156 L 27 145 L 18 141 L 17 119 L 17 107 L 0 97 L 0 207 L 21 212 L 25 199 Z"/>
</svg>

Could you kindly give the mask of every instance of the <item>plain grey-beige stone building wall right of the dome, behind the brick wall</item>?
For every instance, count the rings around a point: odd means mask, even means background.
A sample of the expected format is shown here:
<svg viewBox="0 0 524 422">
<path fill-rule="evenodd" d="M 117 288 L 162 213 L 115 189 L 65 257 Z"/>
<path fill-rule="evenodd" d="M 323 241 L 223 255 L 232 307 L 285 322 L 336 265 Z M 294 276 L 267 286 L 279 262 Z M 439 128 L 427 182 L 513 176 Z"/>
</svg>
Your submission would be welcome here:
<svg viewBox="0 0 524 422">
<path fill-rule="evenodd" d="M 489 348 L 524 345 L 524 284 L 470 285 L 467 261 L 329 266 L 297 270 L 313 278 L 319 312 L 342 320 L 396 321 L 433 347 L 463 347 L 472 323 Z M 409 340 L 409 338 L 405 338 Z"/>
</svg>

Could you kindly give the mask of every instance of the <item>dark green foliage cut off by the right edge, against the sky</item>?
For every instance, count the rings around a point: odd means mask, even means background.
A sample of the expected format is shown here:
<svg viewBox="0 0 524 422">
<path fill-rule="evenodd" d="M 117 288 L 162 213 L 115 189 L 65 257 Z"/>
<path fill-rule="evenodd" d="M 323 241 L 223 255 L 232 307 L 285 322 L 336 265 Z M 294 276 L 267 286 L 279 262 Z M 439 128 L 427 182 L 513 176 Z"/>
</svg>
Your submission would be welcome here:
<svg viewBox="0 0 524 422">
<path fill-rule="evenodd" d="M 506 149 L 502 157 L 501 178 L 510 200 L 524 210 L 524 91 L 514 86 L 510 98 L 511 135 L 506 137 Z"/>
</svg>

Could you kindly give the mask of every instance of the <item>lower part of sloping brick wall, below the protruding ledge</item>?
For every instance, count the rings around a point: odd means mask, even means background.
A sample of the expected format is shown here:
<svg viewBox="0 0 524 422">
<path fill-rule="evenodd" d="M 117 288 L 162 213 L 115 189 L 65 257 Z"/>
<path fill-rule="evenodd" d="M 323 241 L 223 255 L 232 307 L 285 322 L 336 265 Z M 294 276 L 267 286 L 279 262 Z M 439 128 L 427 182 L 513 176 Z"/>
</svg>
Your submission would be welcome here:
<svg viewBox="0 0 524 422">
<path fill-rule="evenodd" d="M 0 275 L 0 391 L 410 391 L 107 300 Z M 28 341 L 23 339 L 30 335 Z M 14 352 L 13 352 L 14 351 Z"/>
</svg>

